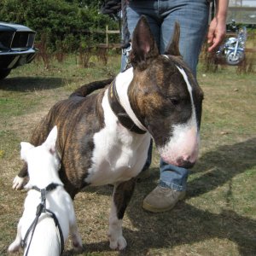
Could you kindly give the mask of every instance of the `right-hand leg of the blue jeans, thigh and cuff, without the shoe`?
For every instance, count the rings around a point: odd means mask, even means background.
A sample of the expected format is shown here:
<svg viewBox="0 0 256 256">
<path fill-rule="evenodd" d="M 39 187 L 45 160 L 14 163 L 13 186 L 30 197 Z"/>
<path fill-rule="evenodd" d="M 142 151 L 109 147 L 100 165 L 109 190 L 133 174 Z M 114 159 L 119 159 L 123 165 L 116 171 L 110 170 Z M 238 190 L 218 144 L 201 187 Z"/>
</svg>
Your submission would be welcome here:
<svg viewBox="0 0 256 256">
<path fill-rule="evenodd" d="M 174 0 L 161 1 L 161 17 L 164 19 L 161 26 L 160 51 L 166 49 L 172 38 L 174 23 L 180 26 L 179 50 L 183 60 L 188 64 L 196 76 L 196 66 L 207 33 L 209 17 L 209 4 L 206 0 Z M 172 3 L 171 3 L 172 2 Z M 172 26 L 170 26 L 172 24 Z M 182 168 L 183 169 L 183 168 Z M 170 170 L 173 171 L 170 173 Z M 175 166 L 168 165 L 161 160 L 160 185 L 167 184 L 172 189 L 184 190 L 188 171 L 178 170 Z"/>
</svg>

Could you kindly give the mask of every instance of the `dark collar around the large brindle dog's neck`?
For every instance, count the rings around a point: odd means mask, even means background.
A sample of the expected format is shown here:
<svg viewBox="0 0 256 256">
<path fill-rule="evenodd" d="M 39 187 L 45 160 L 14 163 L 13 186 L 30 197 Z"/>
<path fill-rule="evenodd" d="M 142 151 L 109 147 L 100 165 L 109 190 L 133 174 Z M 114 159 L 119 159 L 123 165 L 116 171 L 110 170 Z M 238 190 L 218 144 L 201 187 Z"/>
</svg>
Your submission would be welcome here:
<svg viewBox="0 0 256 256">
<path fill-rule="evenodd" d="M 127 128 L 129 131 L 136 132 L 138 134 L 144 134 L 147 131 L 143 131 L 132 121 L 130 116 L 126 113 L 125 108 L 119 102 L 119 96 L 116 91 L 115 80 L 110 84 L 108 88 L 108 102 L 110 104 L 113 113 L 119 119 L 119 123 Z"/>
</svg>

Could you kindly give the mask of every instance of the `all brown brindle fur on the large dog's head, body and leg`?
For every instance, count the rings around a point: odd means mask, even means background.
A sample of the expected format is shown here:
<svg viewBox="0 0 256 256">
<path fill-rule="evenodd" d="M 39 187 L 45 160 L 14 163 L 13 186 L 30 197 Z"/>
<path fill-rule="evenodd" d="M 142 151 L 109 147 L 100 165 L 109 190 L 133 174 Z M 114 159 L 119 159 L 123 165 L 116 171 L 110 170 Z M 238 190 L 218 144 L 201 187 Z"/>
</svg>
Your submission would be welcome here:
<svg viewBox="0 0 256 256">
<path fill-rule="evenodd" d="M 165 145 L 170 137 L 171 124 L 183 124 L 191 115 L 191 99 L 182 74 L 188 74 L 193 86 L 197 122 L 201 120 L 202 91 L 178 51 L 179 31 L 176 32 L 166 54 L 159 55 L 145 17 L 139 20 L 133 33 L 131 64 L 133 79 L 128 89 L 131 108 L 137 119 L 147 128 L 157 146 Z M 172 53 L 173 56 L 170 56 Z M 102 86 L 103 87 L 103 86 Z M 108 88 L 108 87 L 107 87 Z M 61 154 L 60 177 L 65 189 L 74 196 L 87 184 L 84 179 L 92 162 L 93 136 L 104 128 L 102 98 L 105 90 L 89 94 L 86 87 L 75 91 L 67 100 L 58 102 L 32 134 L 32 144 L 44 142 L 54 125 L 58 127 L 57 148 Z M 147 150 L 148 148 L 145 148 Z M 19 176 L 26 175 L 26 166 Z M 131 199 L 136 177 L 116 184 L 113 202 L 118 218 L 123 218 Z"/>
</svg>

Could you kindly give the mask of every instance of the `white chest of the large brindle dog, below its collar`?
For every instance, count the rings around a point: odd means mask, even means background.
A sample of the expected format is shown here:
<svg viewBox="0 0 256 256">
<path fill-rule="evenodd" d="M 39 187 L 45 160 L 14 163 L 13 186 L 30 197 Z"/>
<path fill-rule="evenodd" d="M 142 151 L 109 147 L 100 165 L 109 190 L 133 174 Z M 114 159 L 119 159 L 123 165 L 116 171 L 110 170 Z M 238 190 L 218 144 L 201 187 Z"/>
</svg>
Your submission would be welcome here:
<svg viewBox="0 0 256 256">
<path fill-rule="evenodd" d="M 91 185 L 117 183 L 136 177 L 147 158 L 150 137 L 137 135 L 119 125 L 108 104 L 107 93 L 103 98 L 106 126 L 94 136 L 95 148 L 92 166 L 85 182 Z"/>
</svg>

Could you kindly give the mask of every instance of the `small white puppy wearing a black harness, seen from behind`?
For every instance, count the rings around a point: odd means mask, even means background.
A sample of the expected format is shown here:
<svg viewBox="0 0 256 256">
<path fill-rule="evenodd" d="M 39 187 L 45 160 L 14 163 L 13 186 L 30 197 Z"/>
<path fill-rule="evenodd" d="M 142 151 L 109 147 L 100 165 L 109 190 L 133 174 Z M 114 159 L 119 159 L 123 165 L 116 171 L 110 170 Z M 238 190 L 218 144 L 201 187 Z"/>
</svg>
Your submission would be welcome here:
<svg viewBox="0 0 256 256">
<path fill-rule="evenodd" d="M 60 160 L 55 150 L 56 139 L 55 126 L 41 146 L 20 143 L 20 156 L 27 163 L 30 180 L 25 187 L 29 191 L 17 236 L 8 249 L 10 253 L 24 247 L 24 255 L 60 255 L 69 229 L 73 247 L 83 249 L 73 201 L 58 174 Z"/>
</svg>

